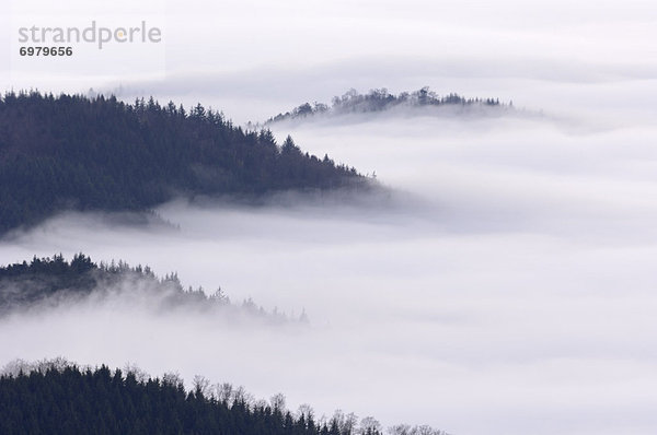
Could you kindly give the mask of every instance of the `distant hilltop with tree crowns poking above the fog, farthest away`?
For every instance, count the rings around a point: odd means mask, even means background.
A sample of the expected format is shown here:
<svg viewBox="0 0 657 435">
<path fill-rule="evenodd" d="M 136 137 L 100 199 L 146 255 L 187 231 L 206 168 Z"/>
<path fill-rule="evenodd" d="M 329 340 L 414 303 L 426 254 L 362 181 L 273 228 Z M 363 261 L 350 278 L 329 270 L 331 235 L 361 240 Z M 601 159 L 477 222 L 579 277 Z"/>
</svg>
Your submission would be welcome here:
<svg viewBox="0 0 657 435">
<path fill-rule="evenodd" d="M 307 118 L 315 115 L 347 115 L 381 113 L 394 108 L 422 108 L 422 107 L 504 107 L 512 105 L 499 103 L 499 98 L 465 98 L 458 94 L 438 95 L 425 86 L 415 92 L 402 92 L 394 95 L 387 89 L 371 90 L 367 94 L 360 94 L 351 89 L 343 96 L 333 97 L 331 106 L 324 103 L 304 103 L 291 111 L 278 114 L 269 118 L 265 124 L 278 122 L 288 119 Z"/>
</svg>

